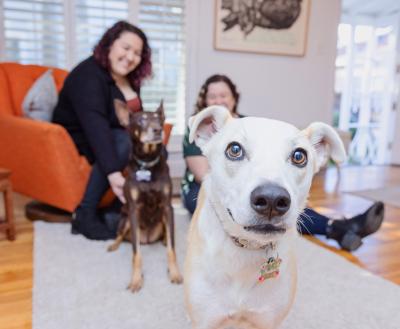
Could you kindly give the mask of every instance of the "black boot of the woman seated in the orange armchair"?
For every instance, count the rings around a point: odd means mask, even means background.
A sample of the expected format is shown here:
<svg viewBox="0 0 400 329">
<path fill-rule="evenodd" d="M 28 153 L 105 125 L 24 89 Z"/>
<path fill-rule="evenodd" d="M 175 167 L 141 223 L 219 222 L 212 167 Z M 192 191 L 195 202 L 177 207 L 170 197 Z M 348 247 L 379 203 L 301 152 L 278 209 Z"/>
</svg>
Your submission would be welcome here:
<svg viewBox="0 0 400 329">
<path fill-rule="evenodd" d="M 100 220 L 95 209 L 78 207 L 72 220 L 72 234 L 82 234 L 91 240 L 108 240 L 115 238 L 115 233 Z"/>
</svg>

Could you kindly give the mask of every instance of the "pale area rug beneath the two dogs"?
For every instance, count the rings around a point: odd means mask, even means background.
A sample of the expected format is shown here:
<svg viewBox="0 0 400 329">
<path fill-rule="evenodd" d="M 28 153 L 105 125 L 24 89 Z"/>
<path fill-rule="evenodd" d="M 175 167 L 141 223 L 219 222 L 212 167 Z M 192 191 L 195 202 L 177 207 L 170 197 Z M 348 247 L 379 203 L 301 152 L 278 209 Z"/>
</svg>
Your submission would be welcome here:
<svg viewBox="0 0 400 329">
<path fill-rule="evenodd" d="M 182 270 L 188 216 L 175 209 Z M 35 222 L 33 329 L 189 329 L 183 286 L 167 277 L 161 244 L 143 247 L 144 287 L 126 290 L 132 251 L 124 243 L 70 234 L 69 224 Z M 400 287 L 299 239 L 295 305 L 282 329 L 399 329 Z M 210 305 L 212 307 L 212 305 Z"/>
</svg>

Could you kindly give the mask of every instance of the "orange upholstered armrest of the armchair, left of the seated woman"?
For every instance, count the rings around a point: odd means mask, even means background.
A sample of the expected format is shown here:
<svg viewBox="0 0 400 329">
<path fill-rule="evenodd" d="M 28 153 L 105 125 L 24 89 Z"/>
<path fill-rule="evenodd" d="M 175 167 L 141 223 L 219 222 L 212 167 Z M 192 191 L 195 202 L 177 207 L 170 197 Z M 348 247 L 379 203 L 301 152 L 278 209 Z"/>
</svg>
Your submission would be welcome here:
<svg viewBox="0 0 400 329">
<path fill-rule="evenodd" d="M 60 125 L 0 115 L 0 167 L 15 191 L 67 211 L 80 202 L 90 165 Z"/>
</svg>

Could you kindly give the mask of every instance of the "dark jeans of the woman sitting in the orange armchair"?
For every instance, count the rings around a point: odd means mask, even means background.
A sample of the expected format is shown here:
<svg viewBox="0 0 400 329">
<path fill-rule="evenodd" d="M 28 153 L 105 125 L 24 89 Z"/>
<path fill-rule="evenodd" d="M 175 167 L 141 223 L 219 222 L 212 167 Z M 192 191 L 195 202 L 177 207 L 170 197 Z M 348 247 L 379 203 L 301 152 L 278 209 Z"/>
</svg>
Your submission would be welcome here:
<svg viewBox="0 0 400 329">
<path fill-rule="evenodd" d="M 112 134 L 118 156 L 118 166 L 123 170 L 128 165 L 132 142 L 128 132 L 124 129 L 113 129 Z M 79 207 L 96 209 L 109 186 L 107 175 L 96 162 L 93 163 L 86 191 Z"/>
</svg>

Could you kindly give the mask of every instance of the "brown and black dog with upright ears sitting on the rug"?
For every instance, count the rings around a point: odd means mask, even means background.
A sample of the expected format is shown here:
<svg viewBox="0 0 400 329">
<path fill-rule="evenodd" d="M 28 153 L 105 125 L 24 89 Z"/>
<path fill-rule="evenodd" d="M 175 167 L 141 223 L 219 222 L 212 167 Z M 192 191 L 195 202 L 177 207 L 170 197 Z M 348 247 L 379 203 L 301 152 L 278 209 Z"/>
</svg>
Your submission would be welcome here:
<svg viewBox="0 0 400 329">
<path fill-rule="evenodd" d="M 172 182 L 162 144 L 163 104 L 155 112 L 135 113 L 122 101 L 115 100 L 114 105 L 121 125 L 132 139 L 132 152 L 124 185 L 126 204 L 117 238 L 108 250 L 116 250 L 124 238 L 131 240 L 133 273 L 128 289 L 136 292 L 143 285 L 140 243 L 163 239 L 167 246 L 169 278 L 172 283 L 181 283 L 174 247 Z"/>
</svg>

